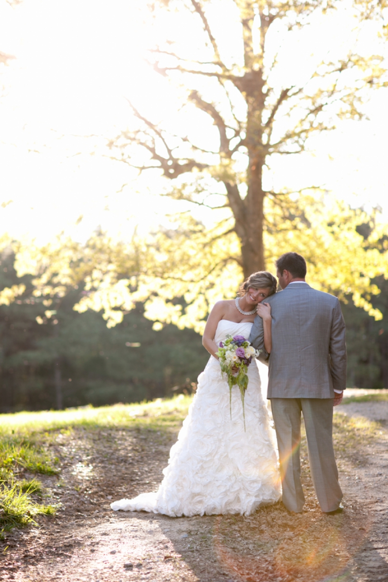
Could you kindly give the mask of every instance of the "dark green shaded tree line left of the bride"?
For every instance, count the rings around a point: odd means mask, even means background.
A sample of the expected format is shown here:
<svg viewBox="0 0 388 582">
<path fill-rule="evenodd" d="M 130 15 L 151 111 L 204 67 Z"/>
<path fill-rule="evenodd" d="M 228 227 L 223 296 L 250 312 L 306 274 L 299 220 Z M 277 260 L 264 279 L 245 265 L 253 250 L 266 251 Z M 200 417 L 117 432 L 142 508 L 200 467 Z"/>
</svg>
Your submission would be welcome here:
<svg viewBox="0 0 388 582">
<path fill-rule="evenodd" d="M 174 388 L 191 391 L 208 359 L 195 332 L 173 325 L 154 331 L 141 303 L 120 311 L 122 323 L 107 328 L 100 313 L 74 311 L 88 293 L 82 281 L 60 293 L 45 281 L 45 294 L 30 275 L 17 277 L 13 260 L 3 254 L 0 289 L 23 284 L 25 290 L 0 306 L 0 410 L 138 402 Z"/>
</svg>

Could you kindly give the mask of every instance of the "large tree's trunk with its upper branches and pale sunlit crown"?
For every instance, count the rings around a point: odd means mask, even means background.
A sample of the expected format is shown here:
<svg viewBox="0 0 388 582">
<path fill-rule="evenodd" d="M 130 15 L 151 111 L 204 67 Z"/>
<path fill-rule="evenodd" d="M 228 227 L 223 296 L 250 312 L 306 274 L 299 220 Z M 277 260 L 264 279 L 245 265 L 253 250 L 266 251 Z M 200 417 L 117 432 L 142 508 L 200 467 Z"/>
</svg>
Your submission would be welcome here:
<svg viewBox="0 0 388 582">
<path fill-rule="evenodd" d="M 347 16 L 341 12 L 345 4 Z M 230 214 L 217 236 L 236 233 L 240 249 L 233 260 L 247 276 L 265 268 L 266 199 L 269 207 L 289 204 L 286 183 L 269 187 L 272 160 L 301 154 L 309 138 L 333 130 L 338 120 L 362 119 L 371 88 L 386 86 L 382 57 L 373 54 L 376 44 L 365 54 L 365 42 L 364 48 L 359 42 L 367 26 L 371 38 L 372 30 L 376 36 L 384 31 L 386 3 L 156 0 L 148 6 L 158 43 L 149 62 L 181 95 L 180 131 L 132 103 L 138 124 L 111 141 L 112 156 L 141 172 L 158 168 L 171 182 L 169 195 L 179 200 L 214 205 L 209 194 L 224 196 L 221 205 Z M 314 30 L 336 10 L 347 41 L 327 38 L 315 56 L 306 44 L 299 60 L 304 29 Z M 185 38 L 181 29 L 188 23 Z M 167 27 L 165 38 L 161 26 Z M 209 133 L 216 129 L 216 141 L 210 135 L 201 143 L 190 138 L 193 110 L 202 113 Z"/>
</svg>

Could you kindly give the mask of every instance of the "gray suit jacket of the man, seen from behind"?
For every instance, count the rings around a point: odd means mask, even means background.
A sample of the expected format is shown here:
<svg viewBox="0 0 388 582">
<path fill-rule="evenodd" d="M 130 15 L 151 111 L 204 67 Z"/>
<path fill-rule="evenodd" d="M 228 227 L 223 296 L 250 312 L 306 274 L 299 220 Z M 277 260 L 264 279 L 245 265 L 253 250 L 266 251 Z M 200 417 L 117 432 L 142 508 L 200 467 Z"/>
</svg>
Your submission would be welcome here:
<svg viewBox="0 0 388 582">
<path fill-rule="evenodd" d="M 269 363 L 267 398 L 333 398 L 346 388 L 345 323 L 339 300 L 295 282 L 268 297 L 272 352 L 264 348 L 263 322 L 255 318 L 250 342 Z"/>
</svg>

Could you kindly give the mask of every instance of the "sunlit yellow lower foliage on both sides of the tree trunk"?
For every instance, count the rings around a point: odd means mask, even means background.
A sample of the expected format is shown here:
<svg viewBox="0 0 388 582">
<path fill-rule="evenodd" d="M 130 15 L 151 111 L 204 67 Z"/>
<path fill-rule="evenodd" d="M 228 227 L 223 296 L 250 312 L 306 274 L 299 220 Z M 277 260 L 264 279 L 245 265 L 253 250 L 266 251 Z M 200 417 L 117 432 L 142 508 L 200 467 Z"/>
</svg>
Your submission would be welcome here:
<svg viewBox="0 0 388 582">
<path fill-rule="evenodd" d="M 372 279 L 387 272 L 388 242 L 378 214 L 312 196 L 300 197 L 294 208 L 287 205 L 287 214 L 280 207 L 268 214 L 273 225 L 265 231 L 269 265 L 297 249 L 308 262 L 308 281 L 315 288 L 343 301 L 351 297 L 356 306 L 381 318 L 372 304 L 372 296 L 380 293 Z M 234 232 L 219 236 L 219 230 L 219 225 L 209 229 L 188 215 L 176 228 L 134 236 L 127 243 L 96 232 L 85 244 L 64 236 L 45 247 L 15 244 L 15 268 L 20 277 L 34 275 L 34 296 L 44 300 L 48 311 L 70 289 L 82 288 L 74 309 L 102 311 L 109 327 L 140 302 L 154 329 L 172 323 L 202 332 L 211 306 L 235 296 L 243 279 L 239 240 Z M 23 291 L 16 284 L 3 289 L 0 303 Z"/>
</svg>

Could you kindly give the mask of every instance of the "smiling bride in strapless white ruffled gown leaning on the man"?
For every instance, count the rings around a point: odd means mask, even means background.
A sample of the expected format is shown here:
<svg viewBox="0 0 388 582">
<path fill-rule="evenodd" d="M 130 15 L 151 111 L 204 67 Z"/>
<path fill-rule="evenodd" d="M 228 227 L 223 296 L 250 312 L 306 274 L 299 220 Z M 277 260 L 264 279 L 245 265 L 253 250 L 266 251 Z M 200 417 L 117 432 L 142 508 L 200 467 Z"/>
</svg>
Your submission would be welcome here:
<svg viewBox="0 0 388 582">
<path fill-rule="evenodd" d="M 198 377 L 198 388 L 177 442 L 170 450 L 159 489 L 134 499 L 111 503 L 115 511 L 147 511 L 171 517 L 239 513 L 249 515 L 259 505 L 280 498 L 275 432 L 262 399 L 256 361 L 248 367 L 243 407 L 237 386 L 222 377 L 216 352 L 227 335 L 248 338 L 258 304 L 276 291 L 276 279 L 259 271 L 241 285 L 236 300 L 218 301 L 213 307 L 202 343 L 211 354 Z M 266 351 L 271 351 L 270 324 L 264 320 Z"/>
</svg>

